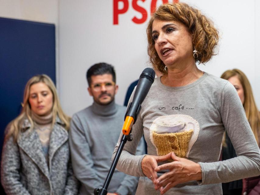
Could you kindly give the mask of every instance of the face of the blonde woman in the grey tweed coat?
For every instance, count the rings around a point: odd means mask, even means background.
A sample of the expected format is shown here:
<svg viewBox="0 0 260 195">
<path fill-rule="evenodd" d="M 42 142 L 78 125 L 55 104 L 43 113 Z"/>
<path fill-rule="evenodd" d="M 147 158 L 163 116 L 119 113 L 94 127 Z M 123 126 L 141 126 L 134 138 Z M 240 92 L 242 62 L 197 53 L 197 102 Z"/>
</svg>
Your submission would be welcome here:
<svg viewBox="0 0 260 195">
<path fill-rule="evenodd" d="M 51 113 L 53 106 L 53 95 L 45 83 L 35 83 L 30 87 L 29 103 L 31 110 L 40 116 Z"/>
</svg>

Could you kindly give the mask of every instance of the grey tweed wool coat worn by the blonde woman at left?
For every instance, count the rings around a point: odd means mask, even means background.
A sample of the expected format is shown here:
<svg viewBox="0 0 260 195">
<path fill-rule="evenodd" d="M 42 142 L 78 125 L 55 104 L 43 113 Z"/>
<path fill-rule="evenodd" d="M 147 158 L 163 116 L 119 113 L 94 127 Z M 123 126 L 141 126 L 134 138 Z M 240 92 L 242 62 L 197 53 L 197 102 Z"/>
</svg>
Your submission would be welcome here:
<svg viewBox="0 0 260 195">
<path fill-rule="evenodd" d="M 28 119 L 20 138 L 5 139 L 2 150 L 1 182 L 9 195 L 72 195 L 78 193 L 78 181 L 70 161 L 68 131 L 57 117 L 49 145 L 47 165 L 40 139 Z M 8 130 L 8 129 L 7 129 Z"/>
</svg>

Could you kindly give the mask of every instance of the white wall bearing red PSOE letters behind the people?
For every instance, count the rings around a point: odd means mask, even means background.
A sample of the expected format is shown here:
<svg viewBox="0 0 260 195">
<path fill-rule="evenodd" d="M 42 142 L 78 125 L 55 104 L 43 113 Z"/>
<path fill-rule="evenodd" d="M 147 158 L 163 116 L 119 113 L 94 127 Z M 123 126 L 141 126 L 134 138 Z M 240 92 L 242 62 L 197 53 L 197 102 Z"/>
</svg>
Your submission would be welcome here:
<svg viewBox="0 0 260 195">
<path fill-rule="evenodd" d="M 72 115 L 93 100 L 87 93 L 86 70 L 97 62 L 115 66 L 119 91 L 116 102 L 123 104 L 126 89 L 147 66 L 146 23 L 135 24 L 134 16 L 141 14 L 129 9 L 113 25 L 113 1 L 73 2 L 62 0 L 59 4 L 59 62 L 60 95 L 65 111 Z M 150 2 L 138 5 L 150 10 Z M 160 4 L 162 1 L 158 1 Z M 251 81 L 255 99 L 260 108 L 259 76 L 259 10 L 257 0 L 184 0 L 202 10 L 220 30 L 219 55 L 199 68 L 220 76 L 225 70 L 241 69 Z M 120 4 L 122 7 L 123 5 Z"/>
</svg>

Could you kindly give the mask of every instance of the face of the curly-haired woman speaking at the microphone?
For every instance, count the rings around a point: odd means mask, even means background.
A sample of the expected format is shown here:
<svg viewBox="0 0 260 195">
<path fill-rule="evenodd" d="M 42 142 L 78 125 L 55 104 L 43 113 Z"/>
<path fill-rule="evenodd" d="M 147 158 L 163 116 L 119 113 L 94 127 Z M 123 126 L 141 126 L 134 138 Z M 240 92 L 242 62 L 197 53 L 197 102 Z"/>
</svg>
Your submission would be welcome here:
<svg viewBox="0 0 260 195">
<path fill-rule="evenodd" d="M 152 30 L 154 47 L 167 67 L 175 62 L 194 60 L 192 35 L 184 24 L 155 19 Z"/>
</svg>

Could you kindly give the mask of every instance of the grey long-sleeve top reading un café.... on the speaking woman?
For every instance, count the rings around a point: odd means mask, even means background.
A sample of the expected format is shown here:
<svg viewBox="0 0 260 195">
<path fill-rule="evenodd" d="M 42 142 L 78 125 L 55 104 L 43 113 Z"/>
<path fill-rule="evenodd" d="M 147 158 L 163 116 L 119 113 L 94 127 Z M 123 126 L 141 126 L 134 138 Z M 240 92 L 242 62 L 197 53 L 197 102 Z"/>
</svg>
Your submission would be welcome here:
<svg viewBox="0 0 260 195">
<path fill-rule="evenodd" d="M 140 139 L 144 134 L 148 154 L 158 155 L 160 145 L 155 144 L 153 131 L 167 131 L 170 127 L 181 129 L 183 125 L 183 129 L 189 126 L 193 130 L 186 158 L 200 164 L 202 181 L 201 185 L 197 181 L 179 184 L 166 194 L 220 195 L 222 182 L 260 175 L 259 147 L 237 92 L 227 80 L 204 73 L 187 86 L 168 87 L 160 82 L 160 78 L 155 79 L 132 127 L 133 136 Z M 237 157 L 218 161 L 225 130 Z M 139 139 L 125 144 L 117 168 L 133 176 L 143 176 L 139 179 L 136 194 L 160 194 L 142 172 L 144 155 L 132 155 Z M 182 147 L 180 142 L 169 140 L 167 143 L 172 151 L 178 152 L 175 149 Z M 118 144 L 115 151 L 117 149 Z"/>
</svg>

